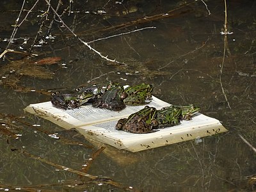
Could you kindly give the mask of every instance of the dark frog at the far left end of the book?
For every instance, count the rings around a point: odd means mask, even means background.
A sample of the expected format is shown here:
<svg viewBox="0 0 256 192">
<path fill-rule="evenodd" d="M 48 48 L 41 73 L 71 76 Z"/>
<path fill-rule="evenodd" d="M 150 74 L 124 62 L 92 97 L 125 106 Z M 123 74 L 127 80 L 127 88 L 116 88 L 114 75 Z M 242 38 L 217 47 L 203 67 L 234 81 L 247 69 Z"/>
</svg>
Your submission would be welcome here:
<svg viewBox="0 0 256 192">
<path fill-rule="evenodd" d="M 77 95 L 72 93 L 52 93 L 51 102 L 56 108 L 65 110 L 78 108 L 81 105 Z"/>
</svg>

